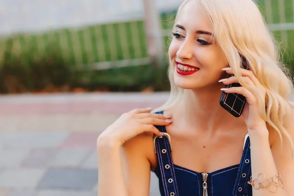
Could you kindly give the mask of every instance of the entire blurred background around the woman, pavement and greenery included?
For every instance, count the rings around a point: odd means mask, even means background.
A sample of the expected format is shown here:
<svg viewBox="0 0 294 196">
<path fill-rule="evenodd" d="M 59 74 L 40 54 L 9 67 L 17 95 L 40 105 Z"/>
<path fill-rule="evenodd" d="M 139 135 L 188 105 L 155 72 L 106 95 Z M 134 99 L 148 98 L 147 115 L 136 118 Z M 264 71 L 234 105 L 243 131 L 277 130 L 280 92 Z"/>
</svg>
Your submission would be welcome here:
<svg viewBox="0 0 294 196">
<path fill-rule="evenodd" d="M 97 195 L 100 132 L 168 98 L 182 1 L 0 0 L 0 196 Z M 294 0 L 257 3 L 293 70 Z"/>
</svg>

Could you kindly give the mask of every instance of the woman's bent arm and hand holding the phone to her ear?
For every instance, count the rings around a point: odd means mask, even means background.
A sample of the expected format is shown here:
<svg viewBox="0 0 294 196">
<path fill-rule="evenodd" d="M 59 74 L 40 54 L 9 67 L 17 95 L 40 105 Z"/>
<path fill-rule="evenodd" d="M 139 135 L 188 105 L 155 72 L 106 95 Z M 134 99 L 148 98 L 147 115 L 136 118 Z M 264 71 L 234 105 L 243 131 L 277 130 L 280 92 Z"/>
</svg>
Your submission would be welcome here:
<svg viewBox="0 0 294 196">
<path fill-rule="evenodd" d="M 233 73 L 230 68 L 222 70 L 229 74 Z M 245 69 L 241 69 L 241 75 L 246 84 L 262 93 L 265 100 L 266 90 L 256 76 L 250 70 Z M 220 82 L 224 84 L 239 83 L 236 76 L 229 77 L 226 81 L 220 80 Z M 253 196 L 293 196 L 294 157 L 289 140 L 284 139 L 281 148 L 279 138 L 275 138 L 274 143 L 270 146 L 269 130 L 266 122 L 260 117 L 258 100 L 249 90 L 242 86 L 221 90 L 226 93 L 241 94 L 247 100 L 242 117 L 247 125 L 250 138 L 252 172 L 250 184 Z M 285 128 L 294 141 L 294 109 L 290 122 Z"/>
</svg>

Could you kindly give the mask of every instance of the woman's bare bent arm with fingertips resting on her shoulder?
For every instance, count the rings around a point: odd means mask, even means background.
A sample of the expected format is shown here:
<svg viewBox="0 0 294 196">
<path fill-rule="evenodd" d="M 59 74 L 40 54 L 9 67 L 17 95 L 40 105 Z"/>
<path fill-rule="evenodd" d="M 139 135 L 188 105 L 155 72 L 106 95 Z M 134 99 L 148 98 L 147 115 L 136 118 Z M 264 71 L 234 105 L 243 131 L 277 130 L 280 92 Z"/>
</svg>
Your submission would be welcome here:
<svg viewBox="0 0 294 196">
<path fill-rule="evenodd" d="M 149 195 L 150 163 L 144 138 L 161 135 L 153 125 L 171 123 L 166 121 L 171 117 L 150 111 L 136 109 L 123 114 L 98 137 L 98 196 Z"/>
</svg>

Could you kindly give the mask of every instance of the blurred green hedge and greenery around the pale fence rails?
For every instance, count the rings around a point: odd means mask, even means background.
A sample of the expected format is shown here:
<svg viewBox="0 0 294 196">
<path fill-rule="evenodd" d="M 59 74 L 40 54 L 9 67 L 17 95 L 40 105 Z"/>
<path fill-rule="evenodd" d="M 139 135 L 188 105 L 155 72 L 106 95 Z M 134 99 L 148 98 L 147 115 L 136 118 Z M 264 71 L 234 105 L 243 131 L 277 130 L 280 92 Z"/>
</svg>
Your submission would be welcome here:
<svg viewBox="0 0 294 196">
<path fill-rule="evenodd" d="M 264 1 L 260 3 L 262 7 Z M 292 2 L 285 0 L 285 5 L 286 22 L 293 22 Z M 277 23 L 277 2 L 272 1 L 272 7 L 273 22 Z M 163 29 L 172 28 L 173 13 L 161 14 Z M 281 32 L 273 33 L 281 39 Z M 293 69 L 294 30 L 287 31 L 287 35 L 284 59 Z M 126 42 L 122 42 L 122 37 Z M 169 37 L 164 40 L 167 51 Z M 91 69 L 97 62 L 122 60 L 127 55 L 128 58 L 147 57 L 142 21 L 11 35 L 0 40 L 0 93 L 67 92 L 75 88 L 87 91 L 142 91 L 148 87 L 156 91 L 169 90 L 167 65 L 161 68 L 145 65 L 101 71 Z M 78 71 L 77 66 L 84 66 L 84 71 Z"/>
</svg>

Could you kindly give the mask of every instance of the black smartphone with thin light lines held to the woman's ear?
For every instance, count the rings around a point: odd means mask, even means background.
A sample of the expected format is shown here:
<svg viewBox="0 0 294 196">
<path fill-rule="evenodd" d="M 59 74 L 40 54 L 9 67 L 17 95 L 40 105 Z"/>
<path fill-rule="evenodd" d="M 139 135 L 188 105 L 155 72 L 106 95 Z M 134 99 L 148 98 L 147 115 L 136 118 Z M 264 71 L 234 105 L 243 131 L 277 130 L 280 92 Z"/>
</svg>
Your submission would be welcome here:
<svg viewBox="0 0 294 196">
<path fill-rule="evenodd" d="M 242 65 L 244 69 L 248 69 L 248 64 L 244 56 L 240 55 L 242 59 Z M 233 76 L 233 74 L 230 74 L 229 77 Z M 239 83 L 232 83 L 229 85 L 225 85 L 224 88 L 230 88 L 230 87 L 240 87 L 241 85 Z M 246 98 L 243 95 L 236 94 L 236 93 L 226 93 L 222 92 L 220 104 L 221 107 L 223 107 L 226 111 L 228 111 L 230 114 L 232 114 L 234 117 L 240 117 L 242 115 L 242 112 L 244 110 L 246 103 Z"/>
</svg>

